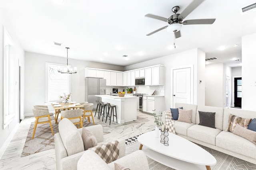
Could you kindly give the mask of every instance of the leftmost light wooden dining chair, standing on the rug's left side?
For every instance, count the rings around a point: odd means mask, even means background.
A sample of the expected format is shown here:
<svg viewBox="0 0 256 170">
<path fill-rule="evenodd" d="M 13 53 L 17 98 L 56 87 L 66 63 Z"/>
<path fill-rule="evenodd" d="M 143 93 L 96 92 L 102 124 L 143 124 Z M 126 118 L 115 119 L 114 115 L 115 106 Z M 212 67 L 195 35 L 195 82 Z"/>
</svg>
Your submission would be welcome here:
<svg viewBox="0 0 256 170">
<path fill-rule="evenodd" d="M 36 118 L 32 139 L 34 139 L 37 124 L 42 124 L 42 123 L 50 123 L 52 135 L 54 135 L 53 129 L 52 129 L 52 122 L 51 122 L 52 120 L 55 120 L 53 113 L 49 113 L 48 108 L 45 108 L 45 107 L 34 107 L 32 111 Z"/>
</svg>

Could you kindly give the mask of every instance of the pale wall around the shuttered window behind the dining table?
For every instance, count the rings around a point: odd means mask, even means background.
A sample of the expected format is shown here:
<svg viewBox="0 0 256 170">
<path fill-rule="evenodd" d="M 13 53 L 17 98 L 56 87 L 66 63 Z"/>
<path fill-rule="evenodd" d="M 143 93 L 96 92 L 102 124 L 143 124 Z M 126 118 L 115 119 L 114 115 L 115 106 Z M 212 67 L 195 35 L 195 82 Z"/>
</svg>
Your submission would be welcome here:
<svg viewBox="0 0 256 170">
<path fill-rule="evenodd" d="M 45 63 L 66 64 L 66 58 L 44 55 L 38 53 L 25 52 L 25 116 L 32 116 L 31 107 L 34 105 L 44 105 L 45 103 Z M 84 68 L 102 68 L 109 70 L 123 71 L 123 66 L 95 63 L 68 59 L 68 63 L 77 67 L 78 73 L 72 74 L 72 100 L 84 102 Z"/>
</svg>

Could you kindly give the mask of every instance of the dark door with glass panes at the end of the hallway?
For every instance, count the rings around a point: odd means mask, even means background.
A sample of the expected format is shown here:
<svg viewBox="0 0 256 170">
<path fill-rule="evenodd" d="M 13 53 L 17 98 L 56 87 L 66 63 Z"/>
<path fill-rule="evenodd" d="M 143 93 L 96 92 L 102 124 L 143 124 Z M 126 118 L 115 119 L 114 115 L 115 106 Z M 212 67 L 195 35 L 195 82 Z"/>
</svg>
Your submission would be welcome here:
<svg viewBox="0 0 256 170">
<path fill-rule="evenodd" d="M 234 107 L 242 107 L 242 77 L 234 78 Z"/>
</svg>

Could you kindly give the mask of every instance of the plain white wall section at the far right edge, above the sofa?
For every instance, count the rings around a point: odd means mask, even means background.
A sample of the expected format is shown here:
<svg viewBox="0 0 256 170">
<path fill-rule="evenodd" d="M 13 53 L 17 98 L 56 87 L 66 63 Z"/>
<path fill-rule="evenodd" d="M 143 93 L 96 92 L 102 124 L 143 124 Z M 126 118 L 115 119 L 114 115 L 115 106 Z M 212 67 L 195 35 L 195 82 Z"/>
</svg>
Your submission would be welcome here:
<svg viewBox="0 0 256 170">
<path fill-rule="evenodd" d="M 256 111 L 256 33 L 242 37 L 242 109 Z"/>
</svg>

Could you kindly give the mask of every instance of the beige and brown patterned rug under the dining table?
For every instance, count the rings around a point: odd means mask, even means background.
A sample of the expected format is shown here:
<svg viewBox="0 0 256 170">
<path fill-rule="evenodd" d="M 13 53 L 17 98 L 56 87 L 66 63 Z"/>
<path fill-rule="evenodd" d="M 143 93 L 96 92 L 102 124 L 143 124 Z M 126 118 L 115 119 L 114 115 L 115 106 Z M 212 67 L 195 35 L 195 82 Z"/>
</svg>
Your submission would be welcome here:
<svg viewBox="0 0 256 170">
<path fill-rule="evenodd" d="M 60 119 L 58 119 L 60 122 Z M 28 156 L 30 154 L 42 152 L 44 150 L 54 148 L 54 135 L 49 123 L 38 124 L 36 127 L 36 132 L 34 139 L 32 139 L 35 123 L 32 122 L 28 131 L 28 136 L 22 150 L 22 156 Z M 93 123 L 89 123 L 88 120 L 85 120 L 83 127 L 92 126 Z M 59 132 L 58 124 L 55 124 L 55 121 L 52 121 L 52 129 L 54 134 Z M 103 129 L 103 134 L 109 133 L 107 130 Z"/>
</svg>

